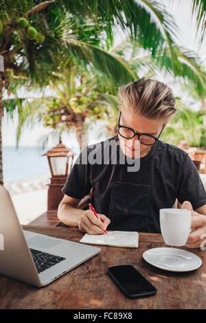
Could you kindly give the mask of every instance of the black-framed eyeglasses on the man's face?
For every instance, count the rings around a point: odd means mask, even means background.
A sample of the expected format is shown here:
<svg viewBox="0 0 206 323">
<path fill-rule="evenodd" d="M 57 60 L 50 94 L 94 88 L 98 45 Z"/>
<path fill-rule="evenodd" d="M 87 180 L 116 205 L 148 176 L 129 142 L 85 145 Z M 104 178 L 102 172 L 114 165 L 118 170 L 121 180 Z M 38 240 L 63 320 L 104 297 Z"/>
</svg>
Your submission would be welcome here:
<svg viewBox="0 0 206 323">
<path fill-rule="evenodd" d="M 144 144 L 146 146 L 151 146 L 155 144 L 156 140 L 159 140 L 159 136 L 161 135 L 165 127 L 165 124 L 164 124 L 158 137 L 155 137 L 154 135 L 149 135 L 148 133 L 136 133 L 133 129 L 128 128 L 127 126 L 121 126 L 119 124 L 121 115 L 122 115 L 122 111 L 120 111 L 119 113 L 119 121 L 118 121 L 119 135 L 121 135 L 121 137 L 124 137 L 125 139 L 132 139 L 133 137 L 135 137 L 135 135 L 137 135 L 138 140 L 141 142 L 141 144 Z"/>
</svg>

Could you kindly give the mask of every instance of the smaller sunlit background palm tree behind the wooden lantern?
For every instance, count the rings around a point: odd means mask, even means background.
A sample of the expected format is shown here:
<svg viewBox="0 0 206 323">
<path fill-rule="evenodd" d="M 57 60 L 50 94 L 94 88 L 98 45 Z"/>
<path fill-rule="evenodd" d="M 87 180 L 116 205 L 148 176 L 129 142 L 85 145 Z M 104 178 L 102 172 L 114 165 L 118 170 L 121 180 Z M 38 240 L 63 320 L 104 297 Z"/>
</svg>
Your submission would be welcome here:
<svg viewBox="0 0 206 323">
<path fill-rule="evenodd" d="M 49 82 L 52 94 L 48 95 L 48 91 L 45 91 L 42 98 L 27 98 L 16 102 L 21 105 L 16 133 L 17 145 L 25 122 L 43 120 L 44 126 L 59 130 L 60 135 L 62 131 L 68 132 L 72 129 L 76 133 L 80 150 L 87 146 L 85 120 L 102 119 L 107 113 L 108 102 L 102 100 L 102 94 L 98 92 L 98 77 L 91 77 L 91 74 L 86 72 L 80 74 L 78 69 L 80 67 L 73 65 L 64 74 L 56 73 L 56 82 L 54 80 Z M 5 106 L 9 108 L 11 102 L 15 104 L 14 99 L 7 100 Z"/>
</svg>

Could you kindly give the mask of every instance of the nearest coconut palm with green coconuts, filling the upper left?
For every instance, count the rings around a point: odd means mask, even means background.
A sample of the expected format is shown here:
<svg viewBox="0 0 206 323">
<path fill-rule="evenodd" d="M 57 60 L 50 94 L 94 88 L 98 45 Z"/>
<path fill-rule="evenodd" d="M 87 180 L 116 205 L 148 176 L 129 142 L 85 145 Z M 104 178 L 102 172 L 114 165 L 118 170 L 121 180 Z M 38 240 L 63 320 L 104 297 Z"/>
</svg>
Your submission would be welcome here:
<svg viewBox="0 0 206 323">
<path fill-rule="evenodd" d="M 62 66 L 62 59 L 73 56 L 91 68 L 122 80 L 130 81 L 126 68 L 117 66 L 109 55 L 105 56 L 92 37 L 82 41 L 72 35 L 72 18 L 87 20 L 106 32 L 106 46 L 113 44 L 113 27 L 139 38 L 145 49 L 157 49 L 168 43 L 172 58 L 172 36 L 176 25 L 172 16 L 159 3 L 153 1 L 114 0 L 5 0 L 0 3 L 0 55 L 4 59 L 4 71 L 0 77 L 0 127 L 3 117 L 3 89 L 10 91 L 10 71 L 27 78 L 27 85 L 47 85 L 52 72 Z M 91 25 L 88 25 L 90 28 Z M 84 33 L 83 33 L 84 34 Z M 88 35 L 88 34 L 87 34 Z M 95 36 L 95 35 L 94 35 Z M 67 57 L 67 58 L 66 58 Z M 174 59 L 172 60 L 172 62 Z M 8 73 L 9 72 L 9 73 Z M 1 128 L 0 128 L 1 132 Z M 0 135 L 0 184 L 3 183 Z"/>
</svg>

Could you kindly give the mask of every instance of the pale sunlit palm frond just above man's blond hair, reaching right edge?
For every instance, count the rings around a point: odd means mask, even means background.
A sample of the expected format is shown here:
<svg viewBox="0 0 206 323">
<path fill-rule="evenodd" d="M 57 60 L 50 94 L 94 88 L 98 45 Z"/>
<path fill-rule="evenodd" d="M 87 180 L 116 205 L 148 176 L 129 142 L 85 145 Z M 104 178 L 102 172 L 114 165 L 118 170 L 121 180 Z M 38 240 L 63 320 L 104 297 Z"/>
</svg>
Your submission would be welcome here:
<svg viewBox="0 0 206 323">
<path fill-rule="evenodd" d="M 152 58 L 150 52 L 142 50 L 139 41 L 133 41 L 130 38 L 124 40 L 118 46 L 111 48 L 109 52 L 119 56 L 119 51 L 123 52 L 124 60 L 128 68 L 135 71 L 136 74 L 143 74 L 146 78 L 155 78 L 161 71 L 161 74 L 170 74 L 174 76 L 174 82 L 185 82 L 190 88 L 194 89 L 198 96 L 206 93 L 206 71 L 198 55 L 184 47 L 173 46 L 176 58 L 172 58 L 170 48 L 156 53 Z"/>
</svg>

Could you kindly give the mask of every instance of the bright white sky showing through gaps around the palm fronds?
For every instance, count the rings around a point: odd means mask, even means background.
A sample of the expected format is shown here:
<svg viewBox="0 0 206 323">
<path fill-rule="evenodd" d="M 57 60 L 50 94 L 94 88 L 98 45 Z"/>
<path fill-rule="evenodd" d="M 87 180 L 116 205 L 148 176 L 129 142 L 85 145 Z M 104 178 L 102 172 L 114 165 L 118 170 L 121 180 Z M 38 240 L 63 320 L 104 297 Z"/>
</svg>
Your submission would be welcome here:
<svg viewBox="0 0 206 323">
<path fill-rule="evenodd" d="M 160 1 L 159 1 L 160 2 Z M 203 41 L 201 47 L 198 46 L 198 36 L 196 35 L 196 20 L 192 19 L 192 7 L 190 5 L 192 1 L 190 0 L 162 0 L 161 3 L 165 5 L 165 9 L 172 14 L 176 25 L 178 25 L 181 32 L 178 34 L 179 37 L 175 38 L 175 41 L 178 45 L 181 45 L 187 49 L 190 49 L 196 52 L 202 60 L 206 59 L 206 37 Z M 122 35 L 116 34 L 115 44 L 122 41 Z M 168 80 L 161 79 L 162 82 L 169 82 Z M 179 92 L 179 87 L 172 87 L 173 93 L 175 96 L 182 96 L 183 100 L 187 102 L 187 96 L 182 95 L 183 93 Z M 198 109 L 198 106 L 196 108 Z M 11 120 L 8 118 L 8 115 L 4 115 L 2 122 L 2 143 L 3 146 L 15 146 L 16 145 L 16 126 L 18 124 L 18 117 L 14 115 L 14 119 Z M 89 131 L 89 144 L 93 144 L 101 140 L 106 139 L 105 135 L 100 137 L 98 126 L 95 129 Z M 35 126 L 25 126 L 19 146 L 41 146 L 41 140 L 45 135 L 51 133 L 52 129 L 45 128 L 43 124 L 36 124 Z M 58 144 L 58 140 L 50 138 L 48 146 L 54 146 Z M 76 136 L 74 133 L 62 135 L 62 142 L 71 148 L 71 146 L 76 146 Z"/>
</svg>

